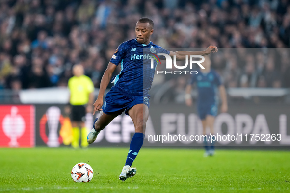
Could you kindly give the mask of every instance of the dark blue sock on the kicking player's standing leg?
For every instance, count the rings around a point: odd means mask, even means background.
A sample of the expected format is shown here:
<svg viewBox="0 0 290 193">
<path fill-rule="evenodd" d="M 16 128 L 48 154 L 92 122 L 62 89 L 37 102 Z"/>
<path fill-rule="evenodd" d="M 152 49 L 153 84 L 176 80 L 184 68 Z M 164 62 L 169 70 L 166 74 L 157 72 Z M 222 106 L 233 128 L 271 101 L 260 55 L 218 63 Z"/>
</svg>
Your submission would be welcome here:
<svg viewBox="0 0 290 193">
<path fill-rule="evenodd" d="M 133 161 L 135 160 L 136 156 L 139 153 L 139 150 L 143 145 L 144 139 L 145 135 L 143 133 L 134 134 L 130 143 L 130 150 L 128 152 L 125 165 L 132 166 Z"/>
</svg>

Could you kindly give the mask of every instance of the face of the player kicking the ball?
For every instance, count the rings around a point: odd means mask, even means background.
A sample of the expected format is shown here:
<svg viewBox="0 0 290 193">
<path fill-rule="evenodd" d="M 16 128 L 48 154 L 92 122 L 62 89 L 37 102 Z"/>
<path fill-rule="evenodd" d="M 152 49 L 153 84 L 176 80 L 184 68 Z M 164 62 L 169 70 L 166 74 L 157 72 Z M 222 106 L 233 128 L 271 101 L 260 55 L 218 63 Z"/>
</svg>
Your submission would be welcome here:
<svg viewBox="0 0 290 193">
<path fill-rule="evenodd" d="M 150 27 L 149 23 L 137 22 L 135 32 L 137 41 L 140 44 L 149 44 L 150 36 L 153 34 L 153 29 Z"/>
</svg>

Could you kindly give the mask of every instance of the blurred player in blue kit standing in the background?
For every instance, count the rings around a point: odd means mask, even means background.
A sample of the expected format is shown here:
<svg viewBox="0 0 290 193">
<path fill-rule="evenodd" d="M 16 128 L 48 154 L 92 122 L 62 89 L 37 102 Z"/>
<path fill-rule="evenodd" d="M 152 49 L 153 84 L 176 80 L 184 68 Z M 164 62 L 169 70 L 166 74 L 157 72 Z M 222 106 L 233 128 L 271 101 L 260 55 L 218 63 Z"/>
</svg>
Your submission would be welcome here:
<svg viewBox="0 0 290 193">
<path fill-rule="evenodd" d="M 197 98 L 197 112 L 202 122 L 203 135 L 207 135 L 207 128 L 210 128 L 211 135 L 214 135 L 214 119 L 217 115 L 217 88 L 221 98 L 222 113 L 227 112 L 227 94 L 225 87 L 222 85 L 220 76 L 211 69 L 211 60 L 208 56 L 205 57 L 205 61 L 201 63 L 205 69 L 198 71 L 198 74 L 192 75 L 189 84 L 185 89 L 185 103 L 187 106 L 192 105 L 191 89 L 192 84 L 196 83 L 198 98 Z M 209 136 L 208 136 L 209 137 Z M 210 142 L 210 145 L 208 145 Z M 211 139 L 207 141 L 204 138 L 204 146 L 206 149 L 205 157 L 214 155 L 214 142 Z"/>
</svg>

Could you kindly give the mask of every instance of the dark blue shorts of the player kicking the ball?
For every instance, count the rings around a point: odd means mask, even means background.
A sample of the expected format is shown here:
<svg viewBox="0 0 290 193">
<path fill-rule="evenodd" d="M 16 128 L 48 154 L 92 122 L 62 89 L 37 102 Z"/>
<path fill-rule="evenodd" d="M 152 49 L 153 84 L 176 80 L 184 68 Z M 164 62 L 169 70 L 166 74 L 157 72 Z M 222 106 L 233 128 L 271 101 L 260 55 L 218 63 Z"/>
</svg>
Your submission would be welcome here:
<svg viewBox="0 0 290 193">
<path fill-rule="evenodd" d="M 145 96 L 130 96 L 121 92 L 119 89 L 113 86 L 111 90 L 105 96 L 105 101 L 103 104 L 103 112 L 107 115 L 110 114 L 122 114 L 125 111 L 128 114 L 129 109 L 131 109 L 136 104 L 146 104 L 149 108 L 149 98 L 150 95 Z"/>
</svg>

